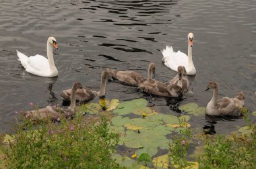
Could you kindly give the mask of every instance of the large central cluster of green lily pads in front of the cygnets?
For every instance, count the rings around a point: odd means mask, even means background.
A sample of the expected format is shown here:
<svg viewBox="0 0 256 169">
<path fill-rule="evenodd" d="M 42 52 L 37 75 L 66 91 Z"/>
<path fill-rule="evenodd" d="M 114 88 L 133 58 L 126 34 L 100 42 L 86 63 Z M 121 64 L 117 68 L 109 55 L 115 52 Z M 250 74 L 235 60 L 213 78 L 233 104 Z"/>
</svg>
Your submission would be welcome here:
<svg viewBox="0 0 256 169">
<path fill-rule="evenodd" d="M 168 144 L 172 140 L 167 139 L 166 135 L 175 131 L 175 127 L 180 127 L 180 123 L 187 122 L 190 119 L 188 115 L 177 117 L 152 113 L 152 110 L 146 107 L 147 104 L 146 99 L 135 99 L 120 103 L 117 109 L 113 111 L 118 115 L 111 119 L 112 126 L 110 129 L 121 133 L 118 144 L 127 148 L 137 148 L 138 156 L 144 153 L 154 156 L 157 154 L 158 148 L 168 149 Z M 145 112 L 146 117 L 143 117 L 142 113 Z M 140 115 L 140 117 L 129 119 L 129 117 L 121 116 L 129 113 Z M 172 127 L 172 125 L 174 126 Z"/>
</svg>

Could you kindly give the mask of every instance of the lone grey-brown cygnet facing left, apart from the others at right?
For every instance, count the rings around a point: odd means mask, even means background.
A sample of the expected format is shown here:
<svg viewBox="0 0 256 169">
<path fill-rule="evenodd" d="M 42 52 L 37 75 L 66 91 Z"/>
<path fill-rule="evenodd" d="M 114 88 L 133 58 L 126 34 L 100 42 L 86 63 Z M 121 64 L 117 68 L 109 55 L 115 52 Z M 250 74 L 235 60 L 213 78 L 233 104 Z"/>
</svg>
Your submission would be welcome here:
<svg viewBox="0 0 256 169">
<path fill-rule="evenodd" d="M 219 86 L 216 82 L 209 82 L 207 90 L 214 89 L 214 95 L 206 106 L 207 115 L 239 115 L 240 109 L 245 106 L 245 95 L 243 91 L 239 92 L 236 97 L 222 97 L 218 99 Z M 218 100 L 217 100 L 218 99 Z"/>
</svg>

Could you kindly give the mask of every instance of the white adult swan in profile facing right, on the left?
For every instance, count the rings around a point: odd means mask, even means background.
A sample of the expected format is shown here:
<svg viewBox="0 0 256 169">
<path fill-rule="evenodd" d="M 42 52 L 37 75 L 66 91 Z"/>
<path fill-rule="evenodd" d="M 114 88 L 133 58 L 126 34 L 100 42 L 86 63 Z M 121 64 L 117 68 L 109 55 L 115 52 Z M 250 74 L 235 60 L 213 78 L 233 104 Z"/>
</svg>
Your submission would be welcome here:
<svg viewBox="0 0 256 169">
<path fill-rule="evenodd" d="M 49 37 L 47 40 L 47 58 L 36 54 L 36 56 L 26 56 L 17 50 L 22 66 L 27 72 L 37 76 L 53 77 L 58 75 L 58 70 L 53 60 L 53 46 L 58 49 L 57 42 L 54 37 Z"/>
</svg>

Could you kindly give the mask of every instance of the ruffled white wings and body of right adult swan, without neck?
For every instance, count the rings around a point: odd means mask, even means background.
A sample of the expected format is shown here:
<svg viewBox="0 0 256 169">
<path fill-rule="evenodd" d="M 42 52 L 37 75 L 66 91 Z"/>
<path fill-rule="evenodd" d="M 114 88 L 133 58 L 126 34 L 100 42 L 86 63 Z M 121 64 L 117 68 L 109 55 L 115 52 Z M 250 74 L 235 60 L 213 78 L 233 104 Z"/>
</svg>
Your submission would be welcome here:
<svg viewBox="0 0 256 169">
<path fill-rule="evenodd" d="M 170 69 L 177 71 L 178 66 L 185 66 L 188 70 L 189 60 L 187 54 L 184 54 L 181 51 L 174 52 L 172 46 L 166 46 L 166 49 L 162 51 L 162 54 L 164 56 L 164 64 Z"/>
</svg>

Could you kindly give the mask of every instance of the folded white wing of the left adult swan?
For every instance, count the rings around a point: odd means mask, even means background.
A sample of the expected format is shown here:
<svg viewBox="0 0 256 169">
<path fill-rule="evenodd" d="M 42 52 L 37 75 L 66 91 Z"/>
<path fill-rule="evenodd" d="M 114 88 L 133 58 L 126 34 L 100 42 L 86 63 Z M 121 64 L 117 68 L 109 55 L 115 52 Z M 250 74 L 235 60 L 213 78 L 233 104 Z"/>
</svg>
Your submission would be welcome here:
<svg viewBox="0 0 256 169">
<path fill-rule="evenodd" d="M 44 58 L 39 54 L 36 56 L 30 56 L 28 58 L 28 64 L 26 67 L 26 71 L 32 74 L 36 74 L 38 76 L 44 76 L 50 70 L 48 59 Z"/>
</svg>

